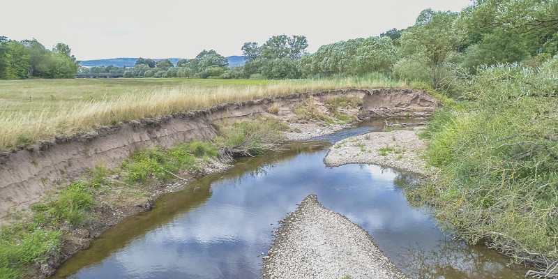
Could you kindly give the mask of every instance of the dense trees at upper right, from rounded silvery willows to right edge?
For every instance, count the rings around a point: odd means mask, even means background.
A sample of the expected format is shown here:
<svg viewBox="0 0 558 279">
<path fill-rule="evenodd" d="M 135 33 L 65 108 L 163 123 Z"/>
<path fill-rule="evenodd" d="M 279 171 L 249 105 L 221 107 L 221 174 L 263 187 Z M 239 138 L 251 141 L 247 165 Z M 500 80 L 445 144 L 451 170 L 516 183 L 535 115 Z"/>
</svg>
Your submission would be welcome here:
<svg viewBox="0 0 558 279">
<path fill-rule="evenodd" d="M 460 13 L 423 10 L 416 24 L 380 37 L 324 45 L 303 56 L 303 77 L 379 72 L 437 88 L 481 65 L 536 68 L 558 52 L 557 1 L 476 1 Z"/>
</svg>

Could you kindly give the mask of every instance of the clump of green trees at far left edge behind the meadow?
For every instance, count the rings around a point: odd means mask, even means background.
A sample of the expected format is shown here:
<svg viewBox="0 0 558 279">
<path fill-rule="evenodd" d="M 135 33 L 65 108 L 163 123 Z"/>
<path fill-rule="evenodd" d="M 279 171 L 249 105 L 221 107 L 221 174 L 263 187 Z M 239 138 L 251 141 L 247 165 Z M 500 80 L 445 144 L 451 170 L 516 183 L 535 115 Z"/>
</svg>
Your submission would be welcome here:
<svg viewBox="0 0 558 279">
<path fill-rule="evenodd" d="M 70 52 L 63 43 L 47 50 L 35 39 L 17 41 L 0 36 L 0 80 L 73 77 L 79 62 Z"/>
</svg>

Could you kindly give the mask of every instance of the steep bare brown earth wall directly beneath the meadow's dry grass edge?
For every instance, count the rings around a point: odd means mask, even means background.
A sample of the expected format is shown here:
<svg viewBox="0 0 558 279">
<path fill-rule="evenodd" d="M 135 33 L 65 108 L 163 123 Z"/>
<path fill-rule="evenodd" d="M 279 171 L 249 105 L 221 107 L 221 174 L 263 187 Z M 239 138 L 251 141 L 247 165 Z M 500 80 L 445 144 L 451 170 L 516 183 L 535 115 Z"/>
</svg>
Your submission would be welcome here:
<svg viewBox="0 0 558 279">
<path fill-rule="evenodd" d="M 287 140 L 333 133 L 342 126 L 320 126 L 296 119 L 294 108 L 312 101 L 320 112 L 328 111 L 324 100 L 332 96 L 356 96 L 358 108 L 344 110 L 357 119 L 370 117 L 429 115 L 439 102 L 421 91 L 409 89 L 340 90 L 299 93 L 280 98 L 264 98 L 240 103 L 217 105 L 207 110 L 183 112 L 157 119 L 142 119 L 76 135 L 59 135 L 33 146 L 0 153 L 0 221 L 8 211 L 24 210 L 47 193 L 63 187 L 87 169 L 104 163 L 116 167 L 140 146 L 173 146 L 177 142 L 210 140 L 217 133 L 216 124 L 250 116 L 274 116 L 290 121 L 296 132 L 286 133 Z M 277 110 L 273 114 L 271 107 Z M 299 128 L 300 127 L 300 128 Z"/>
</svg>

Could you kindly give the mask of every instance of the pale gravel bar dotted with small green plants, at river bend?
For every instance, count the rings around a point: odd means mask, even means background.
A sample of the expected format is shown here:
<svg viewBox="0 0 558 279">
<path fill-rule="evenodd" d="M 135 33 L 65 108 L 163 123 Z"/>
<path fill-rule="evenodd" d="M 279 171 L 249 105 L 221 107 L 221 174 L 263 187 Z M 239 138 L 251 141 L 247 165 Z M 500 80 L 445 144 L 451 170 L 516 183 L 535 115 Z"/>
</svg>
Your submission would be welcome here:
<svg viewBox="0 0 558 279">
<path fill-rule="evenodd" d="M 421 159 L 425 141 L 415 130 L 372 132 L 349 137 L 331 146 L 324 163 L 329 167 L 347 164 L 373 164 L 427 175 L 431 170 Z"/>
</svg>

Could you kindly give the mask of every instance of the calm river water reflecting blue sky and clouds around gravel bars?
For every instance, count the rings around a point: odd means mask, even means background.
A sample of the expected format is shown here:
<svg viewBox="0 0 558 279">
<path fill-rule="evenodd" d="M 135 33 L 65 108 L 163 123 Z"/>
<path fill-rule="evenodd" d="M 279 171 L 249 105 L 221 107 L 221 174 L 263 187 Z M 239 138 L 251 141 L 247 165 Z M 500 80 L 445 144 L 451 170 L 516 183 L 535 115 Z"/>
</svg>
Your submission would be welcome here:
<svg viewBox="0 0 558 279">
<path fill-rule="evenodd" d="M 453 240 L 428 208 L 410 206 L 402 189 L 413 176 L 375 165 L 324 165 L 332 141 L 379 125 L 242 158 L 225 174 L 164 195 L 152 211 L 108 229 L 54 278 L 262 278 L 261 255 L 278 220 L 310 194 L 367 230 L 413 278 L 524 278 L 522 266 Z"/>
</svg>

